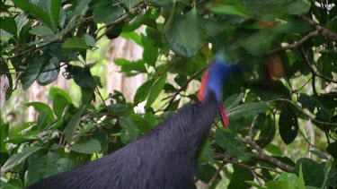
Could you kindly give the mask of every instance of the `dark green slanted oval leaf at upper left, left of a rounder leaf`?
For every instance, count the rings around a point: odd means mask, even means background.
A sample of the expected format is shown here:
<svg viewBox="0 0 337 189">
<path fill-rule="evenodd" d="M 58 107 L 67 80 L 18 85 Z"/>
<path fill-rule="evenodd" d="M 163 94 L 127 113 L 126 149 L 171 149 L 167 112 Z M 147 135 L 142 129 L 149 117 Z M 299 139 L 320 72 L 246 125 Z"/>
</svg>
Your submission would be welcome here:
<svg viewBox="0 0 337 189">
<path fill-rule="evenodd" d="M 46 64 L 49 63 L 49 60 L 49 56 L 38 56 L 32 59 L 31 64 L 24 71 L 21 78 L 23 90 L 27 90 L 31 86 L 31 84 L 35 82 L 40 72 L 42 72 Z"/>
</svg>

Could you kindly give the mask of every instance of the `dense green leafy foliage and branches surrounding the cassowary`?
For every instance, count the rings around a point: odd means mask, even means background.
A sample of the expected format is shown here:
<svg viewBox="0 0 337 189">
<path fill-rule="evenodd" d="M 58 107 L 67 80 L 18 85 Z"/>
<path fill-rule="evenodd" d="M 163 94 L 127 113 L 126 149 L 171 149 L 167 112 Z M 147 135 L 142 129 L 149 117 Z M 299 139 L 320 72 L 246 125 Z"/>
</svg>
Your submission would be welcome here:
<svg viewBox="0 0 337 189">
<path fill-rule="evenodd" d="M 22 188 L 136 140 L 182 99 L 195 99 L 187 87 L 222 51 L 243 72 L 224 86 L 230 125 L 212 127 L 196 181 L 227 188 L 336 188 L 336 12 L 330 0 L 1 1 L 6 99 L 18 82 L 27 90 L 35 81 L 48 85 L 67 77 L 81 89 L 79 102 L 53 88 L 51 106 L 25 103 L 39 111 L 35 122 L 2 121 L 1 185 Z M 141 25 L 146 30 L 139 35 Z M 144 47 L 143 59 L 115 61 L 129 76 L 147 76 L 133 102 L 118 91 L 103 100 L 102 78 L 86 63 L 87 52 L 106 37 Z M 135 113 L 143 101 L 144 112 Z"/>
</svg>

